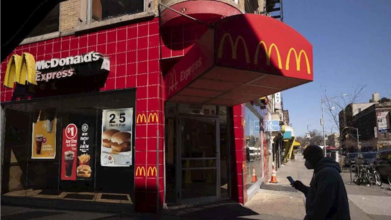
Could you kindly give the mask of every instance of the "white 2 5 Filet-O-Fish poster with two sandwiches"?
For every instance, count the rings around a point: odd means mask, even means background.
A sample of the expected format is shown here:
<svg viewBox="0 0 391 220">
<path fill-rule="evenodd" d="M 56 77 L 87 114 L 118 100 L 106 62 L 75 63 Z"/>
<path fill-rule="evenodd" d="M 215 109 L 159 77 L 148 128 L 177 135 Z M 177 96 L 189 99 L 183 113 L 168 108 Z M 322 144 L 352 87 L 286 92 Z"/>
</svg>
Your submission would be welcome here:
<svg viewBox="0 0 391 220">
<path fill-rule="evenodd" d="M 103 110 L 100 165 L 131 166 L 132 135 L 133 108 Z"/>
</svg>

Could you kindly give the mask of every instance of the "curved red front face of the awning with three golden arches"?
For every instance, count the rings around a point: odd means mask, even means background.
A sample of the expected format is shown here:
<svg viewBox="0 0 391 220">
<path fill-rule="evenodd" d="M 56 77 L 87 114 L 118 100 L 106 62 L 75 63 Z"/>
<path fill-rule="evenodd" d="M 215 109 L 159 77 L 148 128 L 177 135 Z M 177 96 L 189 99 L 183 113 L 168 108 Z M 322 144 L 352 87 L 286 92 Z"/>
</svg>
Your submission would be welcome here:
<svg viewBox="0 0 391 220">
<path fill-rule="evenodd" d="M 244 14 L 217 26 L 217 65 L 313 80 L 312 45 L 285 23 Z"/>
</svg>

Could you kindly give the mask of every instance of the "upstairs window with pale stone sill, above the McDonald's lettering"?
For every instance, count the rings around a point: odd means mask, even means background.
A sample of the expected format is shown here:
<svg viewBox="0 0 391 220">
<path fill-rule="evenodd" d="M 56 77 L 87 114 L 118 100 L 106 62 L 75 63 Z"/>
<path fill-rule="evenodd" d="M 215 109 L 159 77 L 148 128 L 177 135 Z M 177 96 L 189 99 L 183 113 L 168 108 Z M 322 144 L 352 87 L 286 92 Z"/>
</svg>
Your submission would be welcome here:
<svg viewBox="0 0 391 220">
<path fill-rule="evenodd" d="M 92 22 L 144 11 L 144 0 L 92 0 Z"/>
</svg>

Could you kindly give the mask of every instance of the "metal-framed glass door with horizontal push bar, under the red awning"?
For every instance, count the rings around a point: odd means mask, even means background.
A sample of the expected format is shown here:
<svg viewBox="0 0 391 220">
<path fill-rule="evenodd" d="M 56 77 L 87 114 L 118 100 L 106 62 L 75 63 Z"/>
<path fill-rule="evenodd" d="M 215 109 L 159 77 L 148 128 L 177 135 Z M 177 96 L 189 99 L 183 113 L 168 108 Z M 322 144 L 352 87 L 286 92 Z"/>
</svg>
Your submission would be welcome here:
<svg viewBox="0 0 391 220">
<path fill-rule="evenodd" d="M 219 198 L 220 130 L 216 117 L 179 118 L 177 190 L 179 201 Z"/>
</svg>

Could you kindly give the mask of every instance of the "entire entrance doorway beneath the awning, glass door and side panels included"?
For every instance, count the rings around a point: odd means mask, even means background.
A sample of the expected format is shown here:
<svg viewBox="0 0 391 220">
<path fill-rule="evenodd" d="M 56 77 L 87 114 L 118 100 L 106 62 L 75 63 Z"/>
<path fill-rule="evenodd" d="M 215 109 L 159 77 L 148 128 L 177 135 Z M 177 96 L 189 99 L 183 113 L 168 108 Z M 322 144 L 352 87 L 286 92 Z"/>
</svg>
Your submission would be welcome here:
<svg viewBox="0 0 391 220">
<path fill-rule="evenodd" d="M 167 204 L 230 198 L 230 135 L 225 106 L 166 103 Z"/>
</svg>

